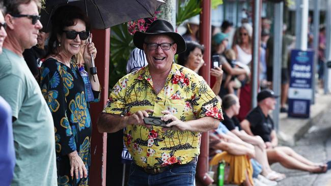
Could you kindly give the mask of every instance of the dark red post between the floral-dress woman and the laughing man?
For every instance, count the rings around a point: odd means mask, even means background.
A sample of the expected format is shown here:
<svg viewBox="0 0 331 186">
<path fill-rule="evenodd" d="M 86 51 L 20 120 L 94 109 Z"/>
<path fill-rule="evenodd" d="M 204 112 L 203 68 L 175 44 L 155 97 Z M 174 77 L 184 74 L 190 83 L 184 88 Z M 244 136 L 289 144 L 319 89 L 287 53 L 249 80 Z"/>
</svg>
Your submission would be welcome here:
<svg viewBox="0 0 331 186">
<path fill-rule="evenodd" d="M 92 30 L 93 42 L 98 50 L 95 66 L 101 86 L 101 98 L 99 103 L 91 104 L 90 114 L 92 119 L 91 139 L 91 167 L 90 185 L 106 185 L 106 152 L 107 133 L 100 134 L 97 129 L 97 120 L 108 99 L 109 78 L 109 47 L 111 29 Z"/>
</svg>

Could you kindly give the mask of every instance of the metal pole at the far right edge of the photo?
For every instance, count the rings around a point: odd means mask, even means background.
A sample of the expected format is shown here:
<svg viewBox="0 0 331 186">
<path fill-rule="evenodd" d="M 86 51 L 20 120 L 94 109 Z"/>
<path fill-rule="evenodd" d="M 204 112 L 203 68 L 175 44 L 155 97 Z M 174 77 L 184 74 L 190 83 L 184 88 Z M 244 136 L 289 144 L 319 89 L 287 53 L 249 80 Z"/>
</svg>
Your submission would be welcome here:
<svg viewBox="0 0 331 186">
<path fill-rule="evenodd" d="M 327 7 L 331 6 L 331 0 L 326 0 Z M 331 10 L 326 9 L 326 49 L 325 49 L 325 58 L 326 61 L 331 61 Z M 328 94 L 330 90 L 329 83 L 331 80 L 329 79 L 330 70 L 324 65 L 324 94 Z"/>
</svg>

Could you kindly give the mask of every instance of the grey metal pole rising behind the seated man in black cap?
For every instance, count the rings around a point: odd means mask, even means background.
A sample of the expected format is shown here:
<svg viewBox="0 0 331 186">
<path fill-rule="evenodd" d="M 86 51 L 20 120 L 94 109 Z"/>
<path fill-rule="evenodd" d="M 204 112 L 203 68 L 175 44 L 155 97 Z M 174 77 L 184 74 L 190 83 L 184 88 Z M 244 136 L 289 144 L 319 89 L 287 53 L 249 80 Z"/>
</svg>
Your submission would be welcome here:
<svg viewBox="0 0 331 186">
<path fill-rule="evenodd" d="M 272 89 L 275 95 L 281 95 L 281 74 L 282 74 L 282 45 L 283 45 L 283 2 L 274 4 L 274 25 L 273 25 L 273 68 L 272 68 Z M 272 111 L 272 119 L 275 131 L 279 131 L 280 99 L 277 99 L 275 109 Z"/>
</svg>

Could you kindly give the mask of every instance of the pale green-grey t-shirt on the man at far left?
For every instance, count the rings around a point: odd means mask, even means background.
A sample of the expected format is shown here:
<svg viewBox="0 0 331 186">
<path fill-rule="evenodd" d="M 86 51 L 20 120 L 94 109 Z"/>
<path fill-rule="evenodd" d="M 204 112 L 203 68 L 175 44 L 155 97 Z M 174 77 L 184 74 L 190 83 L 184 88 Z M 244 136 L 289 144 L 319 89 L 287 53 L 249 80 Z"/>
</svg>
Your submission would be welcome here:
<svg viewBox="0 0 331 186">
<path fill-rule="evenodd" d="M 24 58 L 5 48 L 0 55 L 0 96 L 16 118 L 11 185 L 57 185 L 52 115 Z"/>
</svg>

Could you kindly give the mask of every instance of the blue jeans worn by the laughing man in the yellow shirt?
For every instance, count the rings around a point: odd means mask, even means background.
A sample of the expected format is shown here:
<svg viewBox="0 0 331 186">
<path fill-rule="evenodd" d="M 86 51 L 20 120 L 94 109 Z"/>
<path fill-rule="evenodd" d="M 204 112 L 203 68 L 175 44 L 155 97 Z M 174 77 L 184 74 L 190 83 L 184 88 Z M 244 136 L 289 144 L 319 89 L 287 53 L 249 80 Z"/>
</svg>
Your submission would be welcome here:
<svg viewBox="0 0 331 186">
<path fill-rule="evenodd" d="M 191 186 L 194 185 L 197 162 L 187 163 L 159 174 L 148 174 L 134 163 L 130 167 L 128 186 Z"/>
</svg>

